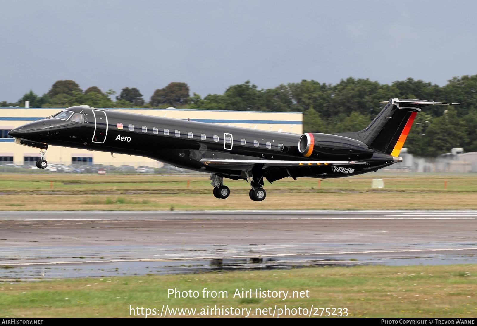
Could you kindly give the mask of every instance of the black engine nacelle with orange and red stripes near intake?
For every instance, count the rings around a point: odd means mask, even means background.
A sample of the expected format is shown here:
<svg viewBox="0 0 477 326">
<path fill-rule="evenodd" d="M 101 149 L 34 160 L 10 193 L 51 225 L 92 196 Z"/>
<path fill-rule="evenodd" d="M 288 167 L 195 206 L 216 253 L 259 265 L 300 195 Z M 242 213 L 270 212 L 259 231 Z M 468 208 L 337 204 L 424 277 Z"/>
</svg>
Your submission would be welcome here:
<svg viewBox="0 0 477 326">
<path fill-rule="evenodd" d="M 319 160 L 362 160 L 371 158 L 374 150 L 363 142 L 337 135 L 307 133 L 300 137 L 298 150 L 305 158 Z"/>
</svg>

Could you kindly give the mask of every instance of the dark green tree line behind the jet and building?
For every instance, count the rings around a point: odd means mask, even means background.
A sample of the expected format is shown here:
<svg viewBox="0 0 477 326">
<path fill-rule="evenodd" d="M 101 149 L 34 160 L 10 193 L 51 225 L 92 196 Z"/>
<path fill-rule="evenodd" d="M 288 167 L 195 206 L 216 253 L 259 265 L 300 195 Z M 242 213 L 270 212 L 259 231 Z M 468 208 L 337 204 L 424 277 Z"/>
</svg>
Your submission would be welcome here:
<svg viewBox="0 0 477 326">
<path fill-rule="evenodd" d="M 477 75 L 454 77 L 444 86 L 407 78 L 392 84 L 349 77 L 337 84 L 302 80 L 258 89 L 246 81 L 231 85 L 223 94 L 190 95 L 186 83 L 173 82 L 158 88 L 146 102 L 135 87 L 125 87 L 119 95 L 92 86 L 82 90 L 72 80 L 55 82 L 48 93 L 30 91 L 16 103 L 0 106 L 67 107 L 87 104 L 93 107 L 144 107 L 243 111 L 302 112 L 303 131 L 341 133 L 366 127 L 391 97 L 464 103 L 457 107 L 428 106 L 417 115 L 405 146 L 420 157 L 436 157 L 452 147 L 477 151 Z"/>
</svg>

